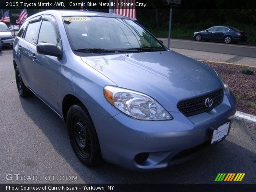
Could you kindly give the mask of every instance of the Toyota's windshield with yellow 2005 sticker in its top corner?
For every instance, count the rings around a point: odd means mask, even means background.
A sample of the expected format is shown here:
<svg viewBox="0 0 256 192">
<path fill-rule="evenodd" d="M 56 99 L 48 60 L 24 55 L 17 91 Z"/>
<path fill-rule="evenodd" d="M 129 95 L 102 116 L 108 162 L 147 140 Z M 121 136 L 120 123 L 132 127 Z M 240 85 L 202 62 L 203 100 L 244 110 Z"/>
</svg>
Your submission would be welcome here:
<svg viewBox="0 0 256 192">
<path fill-rule="evenodd" d="M 164 46 L 138 24 L 107 17 L 64 17 L 72 50 L 155 50 Z"/>
</svg>

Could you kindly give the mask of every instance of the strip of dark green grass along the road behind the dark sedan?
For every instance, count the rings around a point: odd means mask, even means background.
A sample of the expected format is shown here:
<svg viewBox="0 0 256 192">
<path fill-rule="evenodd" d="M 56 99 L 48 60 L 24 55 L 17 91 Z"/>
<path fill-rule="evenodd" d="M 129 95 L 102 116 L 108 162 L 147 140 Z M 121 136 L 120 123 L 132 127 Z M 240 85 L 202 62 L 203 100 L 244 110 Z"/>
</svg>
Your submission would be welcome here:
<svg viewBox="0 0 256 192">
<path fill-rule="evenodd" d="M 214 26 L 215 24 L 209 25 L 208 23 L 204 24 L 186 24 L 186 25 L 172 25 L 171 37 L 173 38 L 193 38 L 193 34 L 196 31 L 205 30 L 210 26 Z M 227 26 L 234 26 L 248 34 L 247 42 L 250 44 L 256 44 L 256 26 L 247 25 L 247 24 L 222 24 Z M 168 26 L 166 28 L 148 28 L 148 30 L 154 34 L 156 37 L 168 37 Z"/>
</svg>

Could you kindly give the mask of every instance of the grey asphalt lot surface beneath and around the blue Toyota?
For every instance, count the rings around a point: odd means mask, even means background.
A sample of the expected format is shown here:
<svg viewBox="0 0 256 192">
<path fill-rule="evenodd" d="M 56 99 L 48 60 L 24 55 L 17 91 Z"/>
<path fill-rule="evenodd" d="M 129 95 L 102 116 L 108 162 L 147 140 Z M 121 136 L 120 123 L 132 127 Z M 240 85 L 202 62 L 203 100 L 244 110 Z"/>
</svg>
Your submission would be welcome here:
<svg viewBox="0 0 256 192">
<path fill-rule="evenodd" d="M 256 126 L 237 120 L 223 142 L 184 164 L 154 172 L 133 172 L 109 163 L 88 168 L 72 151 L 64 122 L 35 96 L 21 98 L 14 75 L 12 50 L 4 48 L 0 52 L 0 183 L 214 183 L 218 173 L 245 173 L 241 183 L 256 183 Z M 25 180 L 7 180 L 7 174 L 24 175 Z M 44 180 L 27 180 L 28 176 Z M 46 180 L 46 176 L 55 177 Z M 77 176 L 77 180 L 59 176 Z"/>
</svg>

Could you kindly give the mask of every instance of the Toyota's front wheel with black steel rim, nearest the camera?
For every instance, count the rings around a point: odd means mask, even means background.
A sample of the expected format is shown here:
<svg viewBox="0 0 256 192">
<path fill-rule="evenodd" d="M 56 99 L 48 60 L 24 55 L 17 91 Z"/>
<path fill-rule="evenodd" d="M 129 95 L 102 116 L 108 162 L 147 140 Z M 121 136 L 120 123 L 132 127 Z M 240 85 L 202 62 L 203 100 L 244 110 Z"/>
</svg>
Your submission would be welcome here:
<svg viewBox="0 0 256 192">
<path fill-rule="evenodd" d="M 86 166 L 103 162 L 100 144 L 93 122 L 83 104 L 72 105 L 67 114 L 70 144 L 78 159 Z"/>
</svg>

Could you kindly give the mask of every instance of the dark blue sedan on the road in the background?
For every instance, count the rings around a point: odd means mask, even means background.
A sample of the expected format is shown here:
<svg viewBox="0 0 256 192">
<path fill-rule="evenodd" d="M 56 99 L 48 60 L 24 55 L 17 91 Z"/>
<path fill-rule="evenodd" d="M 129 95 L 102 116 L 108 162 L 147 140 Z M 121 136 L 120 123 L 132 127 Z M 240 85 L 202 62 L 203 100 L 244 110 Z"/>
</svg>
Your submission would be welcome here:
<svg viewBox="0 0 256 192">
<path fill-rule="evenodd" d="M 194 32 L 193 37 L 196 41 L 224 41 L 227 44 L 247 41 L 246 32 L 229 26 L 214 26 L 203 31 Z"/>
</svg>

